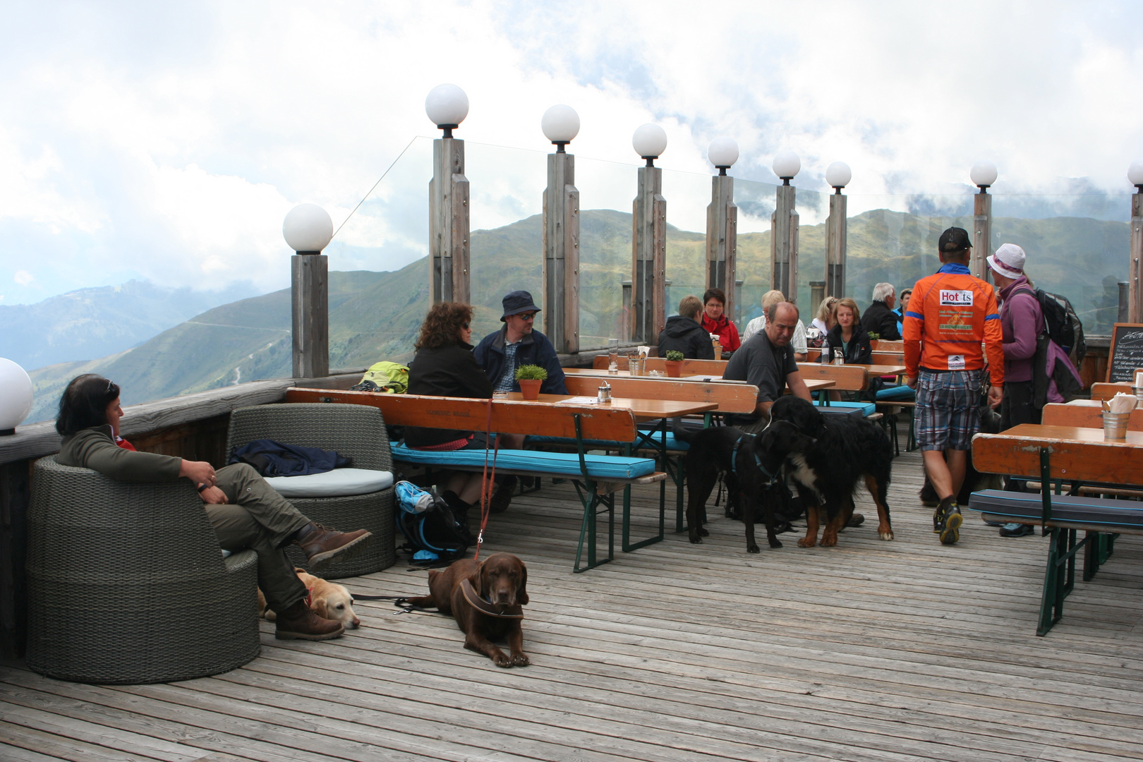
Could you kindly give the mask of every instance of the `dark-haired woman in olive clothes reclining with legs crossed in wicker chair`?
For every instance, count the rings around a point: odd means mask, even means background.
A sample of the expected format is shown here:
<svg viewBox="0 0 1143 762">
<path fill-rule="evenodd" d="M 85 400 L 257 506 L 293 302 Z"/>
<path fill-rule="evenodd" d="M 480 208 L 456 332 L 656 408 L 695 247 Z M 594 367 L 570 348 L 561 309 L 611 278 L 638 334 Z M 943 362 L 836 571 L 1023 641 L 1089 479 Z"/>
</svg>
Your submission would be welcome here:
<svg viewBox="0 0 1143 762">
<path fill-rule="evenodd" d="M 363 548 L 371 537 L 368 531 L 338 532 L 311 522 L 247 464 L 215 471 L 205 460 L 137 452 L 119 436 L 122 417 L 119 386 L 113 382 L 94 374 L 73 378 L 59 400 L 56 431 L 64 439 L 56 460 L 118 481 L 190 479 L 202 496 L 219 546 L 257 553 L 258 587 L 278 615 L 279 639 L 329 640 L 344 632 L 339 621 L 319 617 L 306 604 L 305 585 L 281 548 L 297 543 L 309 556 L 310 569 L 320 569 Z"/>
</svg>

